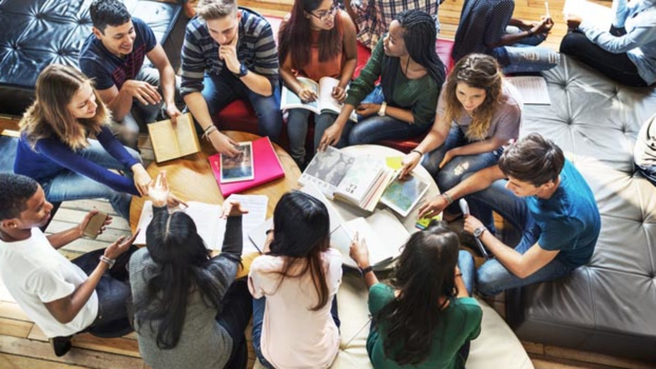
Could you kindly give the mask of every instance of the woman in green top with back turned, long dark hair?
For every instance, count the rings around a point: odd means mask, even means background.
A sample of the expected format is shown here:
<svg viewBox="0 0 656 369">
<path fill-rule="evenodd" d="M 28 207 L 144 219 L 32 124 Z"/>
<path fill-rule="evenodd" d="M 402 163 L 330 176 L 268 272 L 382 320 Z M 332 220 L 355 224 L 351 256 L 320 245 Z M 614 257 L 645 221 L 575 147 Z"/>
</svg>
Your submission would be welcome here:
<svg viewBox="0 0 656 369">
<path fill-rule="evenodd" d="M 374 368 L 464 368 L 483 311 L 469 297 L 474 259 L 458 245 L 446 222 L 431 223 L 405 244 L 388 285 L 371 271 L 365 242 L 353 242 L 350 255 L 369 288 Z"/>
</svg>

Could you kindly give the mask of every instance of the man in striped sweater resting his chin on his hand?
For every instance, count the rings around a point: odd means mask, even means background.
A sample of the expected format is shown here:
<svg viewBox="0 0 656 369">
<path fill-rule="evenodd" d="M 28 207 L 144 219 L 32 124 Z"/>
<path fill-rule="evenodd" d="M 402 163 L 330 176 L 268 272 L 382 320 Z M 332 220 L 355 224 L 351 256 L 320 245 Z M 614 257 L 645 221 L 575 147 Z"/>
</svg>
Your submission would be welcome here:
<svg viewBox="0 0 656 369">
<path fill-rule="evenodd" d="M 277 141 L 282 129 L 278 55 L 270 24 L 236 0 L 201 0 L 182 45 L 182 89 L 189 110 L 216 151 L 239 154 L 212 116 L 235 98 L 251 102 L 258 133 Z"/>
</svg>

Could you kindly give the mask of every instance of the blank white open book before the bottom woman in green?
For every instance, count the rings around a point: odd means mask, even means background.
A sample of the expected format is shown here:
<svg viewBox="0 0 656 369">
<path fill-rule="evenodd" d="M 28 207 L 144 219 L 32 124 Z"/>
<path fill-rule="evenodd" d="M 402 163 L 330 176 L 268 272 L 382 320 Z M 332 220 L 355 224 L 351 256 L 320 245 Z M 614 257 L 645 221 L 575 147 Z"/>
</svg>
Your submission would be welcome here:
<svg viewBox="0 0 656 369">
<path fill-rule="evenodd" d="M 401 254 L 401 246 L 410 237 L 403 224 L 388 209 L 376 211 L 366 218 L 359 217 L 343 223 L 331 234 L 330 244 L 332 248 L 342 253 L 344 265 L 353 268 L 358 265 L 348 255 L 356 232 L 359 240 L 365 240 L 367 244 L 369 263 L 372 266 L 391 263 Z"/>
</svg>

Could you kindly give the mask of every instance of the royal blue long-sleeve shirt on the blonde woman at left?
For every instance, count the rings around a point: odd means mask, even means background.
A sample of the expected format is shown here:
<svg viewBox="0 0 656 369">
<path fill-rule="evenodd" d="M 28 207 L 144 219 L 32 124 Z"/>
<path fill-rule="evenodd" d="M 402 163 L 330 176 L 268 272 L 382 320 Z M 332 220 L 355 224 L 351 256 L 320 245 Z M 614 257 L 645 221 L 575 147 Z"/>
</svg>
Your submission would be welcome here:
<svg viewBox="0 0 656 369">
<path fill-rule="evenodd" d="M 96 135 L 96 139 L 125 169 L 131 169 L 134 164 L 139 162 L 125 150 L 121 142 L 113 137 L 108 127 L 102 127 L 100 133 Z M 133 195 L 139 194 L 131 179 L 83 158 L 60 139 L 55 137 L 40 139 L 35 145 L 35 150 L 32 150 L 26 138 L 20 137 L 16 147 L 14 173 L 26 175 L 43 183 L 66 169 L 85 175 L 113 190 Z"/>
</svg>

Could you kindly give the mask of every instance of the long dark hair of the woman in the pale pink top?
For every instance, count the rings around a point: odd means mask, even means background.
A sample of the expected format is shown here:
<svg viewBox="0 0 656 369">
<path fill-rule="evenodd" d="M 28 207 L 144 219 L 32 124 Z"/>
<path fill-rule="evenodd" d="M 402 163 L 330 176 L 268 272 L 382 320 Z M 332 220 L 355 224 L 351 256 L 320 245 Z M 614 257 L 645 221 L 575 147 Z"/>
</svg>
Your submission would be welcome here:
<svg viewBox="0 0 656 369">
<path fill-rule="evenodd" d="M 330 219 L 325 205 L 303 192 L 284 194 L 274 209 L 274 240 L 270 247 L 269 255 L 285 257 L 279 284 L 286 277 L 298 278 L 309 272 L 319 300 L 312 310 L 324 307 L 330 297 L 321 262 L 321 252 L 330 247 Z M 297 261 L 304 261 L 304 266 L 291 272 Z"/>
</svg>

